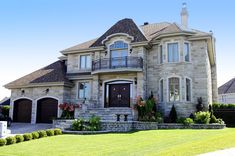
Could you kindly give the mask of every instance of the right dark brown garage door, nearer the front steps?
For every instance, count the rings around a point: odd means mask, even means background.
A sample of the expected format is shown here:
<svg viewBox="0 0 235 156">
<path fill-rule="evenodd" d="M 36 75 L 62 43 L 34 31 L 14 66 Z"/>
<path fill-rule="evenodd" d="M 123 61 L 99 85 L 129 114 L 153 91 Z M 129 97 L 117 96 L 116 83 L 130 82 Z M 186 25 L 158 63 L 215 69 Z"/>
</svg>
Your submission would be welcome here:
<svg viewBox="0 0 235 156">
<path fill-rule="evenodd" d="M 37 103 L 37 123 L 52 123 L 52 119 L 57 117 L 58 100 L 53 98 L 43 98 Z"/>
</svg>

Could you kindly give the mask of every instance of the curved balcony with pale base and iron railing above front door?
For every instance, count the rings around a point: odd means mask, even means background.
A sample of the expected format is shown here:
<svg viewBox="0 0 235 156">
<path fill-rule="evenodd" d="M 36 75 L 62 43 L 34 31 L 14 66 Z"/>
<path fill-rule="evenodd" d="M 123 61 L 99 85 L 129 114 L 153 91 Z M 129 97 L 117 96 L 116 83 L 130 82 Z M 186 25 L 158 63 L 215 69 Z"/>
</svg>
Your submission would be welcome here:
<svg viewBox="0 0 235 156">
<path fill-rule="evenodd" d="M 115 71 L 142 71 L 143 59 L 141 57 L 116 57 L 92 61 L 92 73 Z"/>
</svg>

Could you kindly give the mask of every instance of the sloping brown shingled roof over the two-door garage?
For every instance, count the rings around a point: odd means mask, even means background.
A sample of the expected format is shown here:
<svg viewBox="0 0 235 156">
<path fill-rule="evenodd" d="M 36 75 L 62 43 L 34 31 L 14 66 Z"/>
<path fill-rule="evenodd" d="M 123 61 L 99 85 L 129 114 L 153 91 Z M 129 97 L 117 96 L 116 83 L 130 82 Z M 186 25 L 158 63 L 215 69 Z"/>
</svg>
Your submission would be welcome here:
<svg viewBox="0 0 235 156">
<path fill-rule="evenodd" d="M 10 82 L 5 85 L 5 87 L 26 86 L 34 83 L 49 82 L 69 82 L 66 78 L 66 66 L 63 61 L 56 61 L 42 69 Z"/>
</svg>

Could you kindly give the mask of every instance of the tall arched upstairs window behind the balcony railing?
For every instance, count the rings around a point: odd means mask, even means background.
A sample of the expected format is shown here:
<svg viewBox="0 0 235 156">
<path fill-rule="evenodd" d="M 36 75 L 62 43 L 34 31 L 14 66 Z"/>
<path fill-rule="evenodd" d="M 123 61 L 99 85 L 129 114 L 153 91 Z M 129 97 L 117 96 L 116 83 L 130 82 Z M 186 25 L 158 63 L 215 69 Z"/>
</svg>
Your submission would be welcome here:
<svg viewBox="0 0 235 156">
<path fill-rule="evenodd" d="M 123 41 L 116 41 L 110 45 L 109 49 L 112 67 L 125 66 L 128 56 L 128 44 Z"/>
</svg>

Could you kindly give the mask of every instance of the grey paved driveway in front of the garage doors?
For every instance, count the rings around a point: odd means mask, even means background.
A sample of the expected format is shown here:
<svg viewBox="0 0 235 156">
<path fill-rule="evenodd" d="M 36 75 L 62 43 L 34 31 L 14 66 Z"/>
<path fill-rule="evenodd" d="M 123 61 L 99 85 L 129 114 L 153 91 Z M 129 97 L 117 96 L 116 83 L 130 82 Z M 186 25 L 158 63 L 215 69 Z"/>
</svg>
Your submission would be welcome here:
<svg viewBox="0 0 235 156">
<path fill-rule="evenodd" d="M 11 134 L 23 134 L 49 128 L 52 128 L 52 124 L 12 123 L 11 127 L 8 127 L 11 130 Z"/>
</svg>

